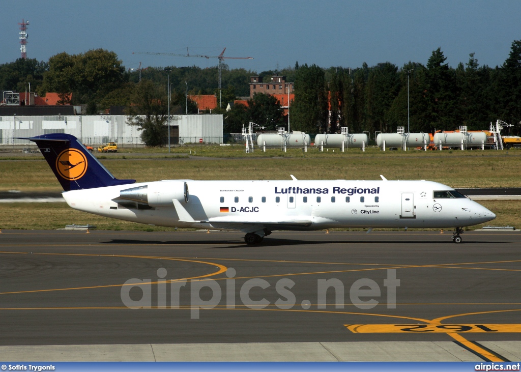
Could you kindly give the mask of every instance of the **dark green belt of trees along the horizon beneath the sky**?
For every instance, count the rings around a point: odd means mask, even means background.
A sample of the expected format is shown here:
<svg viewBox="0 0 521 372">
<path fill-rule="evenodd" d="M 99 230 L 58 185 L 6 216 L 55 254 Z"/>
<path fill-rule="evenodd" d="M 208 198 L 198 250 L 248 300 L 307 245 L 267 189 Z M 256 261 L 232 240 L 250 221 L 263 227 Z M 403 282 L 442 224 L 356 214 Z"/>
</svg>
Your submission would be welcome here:
<svg viewBox="0 0 521 372">
<path fill-rule="evenodd" d="M 371 134 L 407 127 L 407 77 L 412 132 L 453 130 L 459 125 L 466 125 L 469 130 L 486 129 L 490 121 L 500 118 L 514 125 L 505 129 L 505 134 L 521 133 L 521 40 L 513 41 L 510 55 L 503 65 L 495 68 L 480 66 L 474 54 L 470 54 L 466 64 L 451 68 L 441 48 L 432 52 L 425 66 L 409 62 L 400 69 L 389 62 L 373 67 L 364 63 L 354 69 L 322 69 L 296 62 L 294 67 L 257 73 L 230 70 L 224 64 L 221 100 L 217 63 L 209 68 L 147 67 L 141 71 L 142 80 L 150 81 L 155 90 L 164 92 L 169 77 L 173 115 L 186 111 L 187 84 L 189 94 L 217 93 L 222 107 L 212 112 L 225 115 L 225 132 L 239 131 L 249 120 L 269 128 L 282 124 L 280 108 L 262 96 L 254 98 L 250 107 L 237 105 L 226 112 L 228 103 L 237 96 L 249 96 L 250 76 L 268 80 L 274 74 L 295 83 L 291 127 L 311 134 L 334 133 L 344 126 L 352 133 Z M 23 92 L 31 83 L 31 90 L 39 95 L 57 92 L 60 104 L 86 104 L 91 114 L 113 105 L 129 105 L 132 97 L 139 96 L 138 81 L 139 71 L 126 72 L 117 55 L 104 49 L 78 55 L 63 52 L 49 58 L 47 63 L 20 58 L 0 65 L 0 89 Z M 72 102 L 69 102 L 71 92 Z M 166 98 L 162 102 L 166 103 Z M 190 100 L 188 112 L 197 113 Z"/>
</svg>

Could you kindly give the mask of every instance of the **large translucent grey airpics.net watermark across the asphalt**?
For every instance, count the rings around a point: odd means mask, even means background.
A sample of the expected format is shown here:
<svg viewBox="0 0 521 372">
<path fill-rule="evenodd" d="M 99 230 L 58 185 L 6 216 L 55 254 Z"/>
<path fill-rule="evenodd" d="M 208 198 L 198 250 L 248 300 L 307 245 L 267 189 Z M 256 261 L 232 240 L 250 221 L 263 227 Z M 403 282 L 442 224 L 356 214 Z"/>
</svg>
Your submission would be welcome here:
<svg viewBox="0 0 521 372">
<path fill-rule="evenodd" d="M 227 279 L 165 279 L 167 276 L 165 268 L 157 269 L 157 280 L 152 279 L 129 279 L 121 287 L 121 301 L 132 309 L 152 308 L 152 284 L 157 288 L 157 308 L 190 308 L 190 318 L 199 319 L 200 309 L 210 309 L 221 304 L 225 297 L 226 308 L 236 308 L 244 306 L 251 309 L 263 309 L 270 305 L 275 305 L 279 309 L 291 309 L 300 306 L 302 309 L 311 307 L 311 300 L 303 300 L 297 305 L 295 294 L 291 291 L 295 282 L 289 278 L 282 278 L 275 283 L 275 290 L 279 298 L 272 304 L 262 294 L 262 290 L 267 290 L 271 284 L 261 278 L 248 279 L 239 288 L 239 297 L 242 304 L 236 304 L 237 293 L 237 271 L 233 268 L 226 270 Z M 170 285 L 170 303 L 167 304 L 167 287 Z M 224 288 L 221 288 L 221 285 Z M 387 308 L 396 308 L 396 288 L 400 287 L 400 279 L 396 279 L 396 269 L 387 269 L 387 278 L 383 279 L 383 287 L 386 287 Z M 139 291 L 131 291 L 139 288 Z M 345 300 L 344 283 L 340 279 L 317 279 L 317 308 L 326 309 L 328 304 L 326 295 L 328 290 L 334 291 L 334 308 L 344 308 Z M 181 291 L 190 292 L 190 303 L 180 304 Z M 137 293 L 138 292 L 138 293 Z M 252 292 L 254 292 L 252 299 Z M 202 295 L 203 294 L 203 295 Z M 379 284 L 373 279 L 362 278 L 354 281 L 349 288 L 349 299 L 351 303 L 359 309 L 371 309 L 378 305 L 376 300 L 382 296 Z M 133 297 L 133 298 L 131 298 Z M 140 297 L 136 299 L 136 297 Z M 204 299 L 202 298 L 204 297 Z M 222 304 L 225 305 L 224 303 Z M 333 306 L 332 303 L 329 306 Z"/>
</svg>

